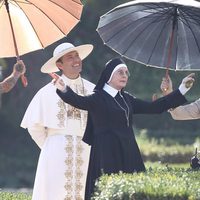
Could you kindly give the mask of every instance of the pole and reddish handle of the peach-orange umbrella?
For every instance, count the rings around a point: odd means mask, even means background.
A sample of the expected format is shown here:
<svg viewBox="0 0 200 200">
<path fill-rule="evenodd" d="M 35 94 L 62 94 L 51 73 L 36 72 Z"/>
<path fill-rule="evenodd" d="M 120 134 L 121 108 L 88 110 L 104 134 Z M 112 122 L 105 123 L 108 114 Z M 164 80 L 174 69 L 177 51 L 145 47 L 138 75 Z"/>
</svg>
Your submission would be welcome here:
<svg viewBox="0 0 200 200">
<path fill-rule="evenodd" d="M 6 6 L 7 13 L 8 13 L 8 18 L 9 18 L 9 22 L 10 22 L 11 31 L 12 31 L 12 36 L 13 36 L 13 42 L 14 42 L 14 47 L 15 47 L 15 53 L 16 53 L 17 61 L 19 61 L 20 57 L 19 57 L 19 52 L 18 52 L 18 49 L 17 49 L 17 42 L 16 42 L 16 38 L 15 38 L 13 24 L 12 24 L 12 20 L 11 20 L 11 17 L 10 17 L 8 0 L 5 0 L 5 6 Z M 26 78 L 26 76 L 24 74 L 21 75 L 21 81 L 22 81 L 22 84 L 23 84 L 24 87 L 26 87 L 28 85 L 27 78 Z"/>
</svg>

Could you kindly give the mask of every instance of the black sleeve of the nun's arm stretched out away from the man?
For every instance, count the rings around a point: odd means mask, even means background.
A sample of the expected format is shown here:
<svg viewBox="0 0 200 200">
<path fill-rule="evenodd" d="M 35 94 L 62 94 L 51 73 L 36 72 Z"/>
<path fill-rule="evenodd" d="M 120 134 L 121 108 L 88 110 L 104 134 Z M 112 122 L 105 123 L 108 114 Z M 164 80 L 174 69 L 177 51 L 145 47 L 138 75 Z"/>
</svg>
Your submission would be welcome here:
<svg viewBox="0 0 200 200">
<path fill-rule="evenodd" d="M 135 114 L 158 114 L 185 102 L 187 102 L 186 98 L 178 89 L 152 102 L 132 97 L 133 113 Z"/>
</svg>

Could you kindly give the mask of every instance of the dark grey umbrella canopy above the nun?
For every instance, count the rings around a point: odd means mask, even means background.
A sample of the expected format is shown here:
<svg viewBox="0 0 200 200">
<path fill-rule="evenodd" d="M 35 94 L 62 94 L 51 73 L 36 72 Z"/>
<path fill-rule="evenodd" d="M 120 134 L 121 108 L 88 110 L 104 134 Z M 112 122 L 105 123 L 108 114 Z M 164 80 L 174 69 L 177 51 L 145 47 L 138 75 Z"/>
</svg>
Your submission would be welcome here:
<svg viewBox="0 0 200 200">
<path fill-rule="evenodd" d="M 200 3 L 136 0 L 100 18 L 97 31 L 122 56 L 149 66 L 200 70 Z"/>
</svg>

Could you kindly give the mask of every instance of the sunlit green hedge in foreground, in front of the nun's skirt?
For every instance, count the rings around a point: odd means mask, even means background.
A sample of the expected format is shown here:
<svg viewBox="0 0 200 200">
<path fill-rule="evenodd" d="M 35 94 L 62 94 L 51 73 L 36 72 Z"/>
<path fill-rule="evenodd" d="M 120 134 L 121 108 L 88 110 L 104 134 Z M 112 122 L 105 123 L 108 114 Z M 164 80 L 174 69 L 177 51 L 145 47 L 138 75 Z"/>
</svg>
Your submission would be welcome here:
<svg viewBox="0 0 200 200">
<path fill-rule="evenodd" d="M 103 175 L 92 200 L 200 200 L 199 177 L 200 171 L 169 167 Z"/>
</svg>

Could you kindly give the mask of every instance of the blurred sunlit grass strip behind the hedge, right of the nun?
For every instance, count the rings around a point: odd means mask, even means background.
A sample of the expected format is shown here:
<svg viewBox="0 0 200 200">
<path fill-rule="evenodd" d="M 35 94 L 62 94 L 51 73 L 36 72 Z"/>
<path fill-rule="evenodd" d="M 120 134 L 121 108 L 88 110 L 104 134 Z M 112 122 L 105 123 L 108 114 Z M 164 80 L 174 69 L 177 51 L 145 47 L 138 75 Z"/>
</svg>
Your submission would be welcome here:
<svg viewBox="0 0 200 200">
<path fill-rule="evenodd" d="M 177 140 L 148 137 L 146 130 L 141 130 L 137 141 L 144 160 L 164 163 L 189 163 L 195 148 L 200 148 L 200 138 L 193 144 L 182 145 Z"/>
</svg>

